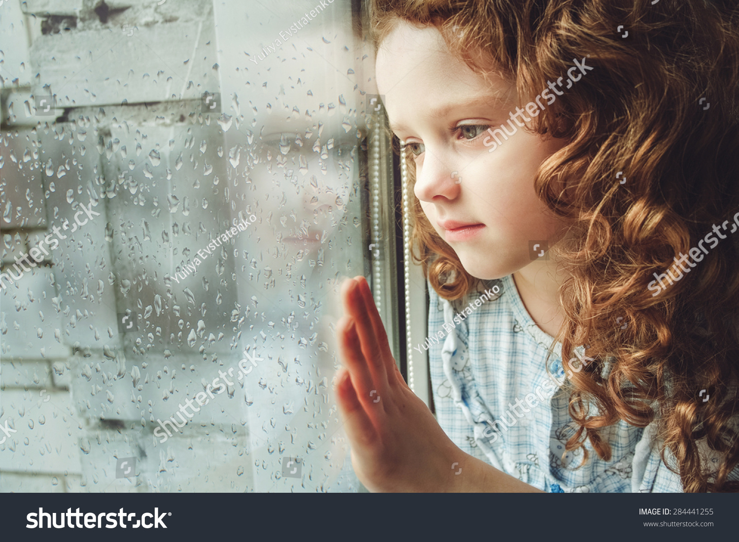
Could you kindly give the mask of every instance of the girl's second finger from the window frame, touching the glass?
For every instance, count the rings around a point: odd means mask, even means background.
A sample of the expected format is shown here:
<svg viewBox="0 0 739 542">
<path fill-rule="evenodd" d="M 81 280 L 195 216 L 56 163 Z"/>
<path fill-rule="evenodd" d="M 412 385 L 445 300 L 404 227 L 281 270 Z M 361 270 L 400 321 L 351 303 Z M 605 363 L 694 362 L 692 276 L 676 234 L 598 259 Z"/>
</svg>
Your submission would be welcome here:
<svg viewBox="0 0 739 542">
<path fill-rule="evenodd" d="M 355 321 L 355 331 L 359 337 L 361 351 L 367 361 L 369 372 L 372 374 L 376 388 L 378 390 L 384 389 L 387 385 L 385 356 L 380 349 L 379 338 L 370 318 L 370 312 L 377 313 L 375 303 L 372 302 L 372 306 L 367 306 L 360 284 L 353 279 L 346 281 L 344 287 L 342 287 L 342 293 L 344 308 L 352 320 Z M 381 328 L 381 335 L 384 335 L 384 333 L 384 328 Z"/>
</svg>

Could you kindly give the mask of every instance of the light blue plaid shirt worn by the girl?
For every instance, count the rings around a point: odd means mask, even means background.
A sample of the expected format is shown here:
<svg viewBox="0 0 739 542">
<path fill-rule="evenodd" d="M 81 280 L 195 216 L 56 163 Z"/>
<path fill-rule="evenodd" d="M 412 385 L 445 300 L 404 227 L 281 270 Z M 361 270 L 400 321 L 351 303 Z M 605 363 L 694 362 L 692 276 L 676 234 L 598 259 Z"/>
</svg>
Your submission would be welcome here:
<svg viewBox="0 0 739 542">
<path fill-rule="evenodd" d="M 523 305 L 512 275 L 488 281 L 500 293 L 490 301 L 483 292 L 449 303 L 429 286 L 428 346 L 437 420 L 452 441 L 539 490 L 571 492 L 682 492 L 680 476 L 661 461 L 655 424 L 636 428 L 619 420 L 602 428 L 611 460 L 603 461 L 590 445 L 564 456 L 565 443 L 576 430 L 568 413 L 568 384 L 557 342 L 539 329 Z M 496 289 L 497 290 L 497 289 Z M 575 349 L 582 359 L 584 348 Z M 588 360 L 588 358 L 585 358 Z M 571 360 L 572 361 L 572 360 Z M 579 370 L 576 364 L 571 368 Z M 604 369 L 607 371 L 607 366 Z M 590 404 L 590 412 L 597 408 Z M 676 468 L 674 456 L 667 461 Z M 713 461 L 718 461 L 712 458 Z M 731 479 L 739 479 L 739 469 Z"/>
</svg>

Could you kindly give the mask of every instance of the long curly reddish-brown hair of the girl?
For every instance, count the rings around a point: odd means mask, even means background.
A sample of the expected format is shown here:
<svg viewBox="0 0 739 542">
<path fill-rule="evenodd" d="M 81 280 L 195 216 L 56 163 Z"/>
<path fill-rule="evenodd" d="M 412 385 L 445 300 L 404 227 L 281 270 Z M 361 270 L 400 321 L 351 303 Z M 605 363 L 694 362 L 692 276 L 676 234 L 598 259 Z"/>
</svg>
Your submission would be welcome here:
<svg viewBox="0 0 739 542">
<path fill-rule="evenodd" d="M 565 324 L 556 339 L 562 360 L 585 344 L 595 360 L 571 378 L 579 428 L 566 449 L 582 448 L 586 461 L 589 439 L 610 460 L 601 428 L 656 419 L 662 458 L 674 454 L 686 492 L 738 491 L 729 474 L 739 464 L 739 233 L 659 295 L 647 289 L 653 273 L 674 274 L 673 258 L 739 210 L 735 1 L 372 0 L 369 17 L 375 44 L 399 20 L 436 27 L 471 69 L 494 66 L 520 97 L 589 57 L 595 69 L 533 128 L 568 142 L 534 179 L 539 198 L 571 224 L 551 248 L 571 274 L 559 291 Z M 619 171 L 627 185 L 615 182 Z M 429 283 L 448 300 L 467 295 L 477 279 L 418 199 L 411 214 L 414 257 Z M 614 324 L 619 317 L 626 329 Z"/>
</svg>

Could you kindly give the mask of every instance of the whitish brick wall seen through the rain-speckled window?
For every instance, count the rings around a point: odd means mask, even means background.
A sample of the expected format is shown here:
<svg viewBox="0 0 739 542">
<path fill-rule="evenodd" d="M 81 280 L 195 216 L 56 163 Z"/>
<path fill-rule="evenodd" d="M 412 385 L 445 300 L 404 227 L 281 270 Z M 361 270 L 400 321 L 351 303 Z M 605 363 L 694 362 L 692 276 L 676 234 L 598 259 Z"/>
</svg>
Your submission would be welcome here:
<svg viewBox="0 0 739 542">
<path fill-rule="evenodd" d="M 29 0 L 22 7 L 19 1 L 6 0 L 0 10 L 0 33 L 4 41 L 13 40 L 13 47 L 3 47 L 0 71 L 3 271 L 13 264 L 14 256 L 27 253 L 52 233 L 52 227 L 64 219 L 73 222 L 79 205 L 91 197 L 98 204 L 95 211 L 101 213 L 77 233 L 67 232 L 69 239 L 61 241 L 39 267 L 0 292 L 0 425 L 8 420 L 16 430 L 0 444 L 0 491 L 322 487 L 329 478 L 325 473 L 341 467 L 346 453 L 341 433 L 336 433 L 336 408 L 331 408 L 327 380 L 322 380 L 330 378 L 336 363 L 333 351 L 319 349 L 330 340 L 330 334 L 322 331 L 321 310 L 315 309 L 328 292 L 327 281 L 321 278 L 317 293 L 310 287 L 302 292 L 307 304 L 296 303 L 301 295 L 297 286 L 287 292 L 269 291 L 259 283 L 261 278 L 253 281 L 249 275 L 248 262 L 264 258 L 258 245 L 249 245 L 248 250 L 229 247 L 222 269 L 213 262 L 208 267 L 204 264 L 202 275 L 188 283 L 196 289 L 196 303 L 188 301 L 182 285 L 178 288 L 172 281 L 167 287 L 163 280 L 166 274 L 174 274 L 186 250 L 204 247 L 209 232 L 222 230 L 236 213 L 244 213 L 244 206 L 253 205 L 253 180 L 239 185 L 241 173 L 236 174 L 227 162 L 229 149 L 244 145 L 246 137 L 243 133 L 234 137 L 235 130 L 226 136 L 222 126 L 204 118 L 200 97 L 206 91 L 225 92 L 224 112 L 228 110 L 237 123 L 259 133 L 260 126 L 252 117 L 257 116 L 257 109 L 259 115 L 264 114 L 265 108 L 254 106 L 251 96 L 257 92 L 259 99 L 270 92 L 284 96 L 285 90 L 259 82 L 270 77 L 266 61 L 245 75 L 251 63 L 244 52 L 236 54 L 231 47 L 241 45 L 234 37 L 239 35 L 239 25 L 233 25 L 241 21 L 240 27 L 251 25 L 256 32 L 262 28 L 262 17 L 271 18 L 264 38 L 255 37 L 254 32 L 244 35 L 243 46 L 256 49 L 276 37 L 274 30 L 285 26 L 285 21 L 266 12 L 246 13 L 245 4 L 234 0 L 218 2 L 216 9 L 211 0 L 168 0 L 161 6 L 151 0 L 127 0 L 106 5 L 107 17 L 99 0 Z M 313 30 L 304 30 L 301 39 L 309 38 L 310 32 L 320 36 L 319 24 L 346 17 L 347 10 L 344 5 L 322 15 L 325 20 L 313 22 Z M 228 35 L 217 32 L 216 11 L 222 20 L 233 18 L 219 27 L 220 32 L 228 29 Z M 296 18 L 296 13 L 289 17 Z M 336 32 L 333 36 L 336 39 Z M 295 43 L 290 51 L 299 50 L 305 56 L 305 43 L 297 38 Z M 336 55 L 330 56 L 331 66 L 312 73 L 296 69 L 294 77 L 280 84 L 294 88 L 299 77 L 304 83 L 316 84 L 311 79 L 326 80 L 325 74 L 329 80 L 341 80 L 343 90 L 327 97 L 318 92 L 315 97 L 309 95 L 306 114 L 293 116 L 310 119 L 310 109 L 320 119 L 326 114 L 323 102 L 333 107 L 341 94 L 350 108 L 348 112 L 341 108 L 336 126 L 342 120 L 346 126 L 355 125 L 353 135 L 358 120 L 351 93 L 359 97 L 359 92 L 355 83 L 341 79 L 348 80 L 343 75 L 345 67 L 335 73 L 333 64 L 341 65 L 344 52 L 327 50 Z M 341 49 L 337 46 L 336 51 Z M 347 58 L 351 60 L 352 55 Z M 225 66 L 230 75 L 222 85 Z M 361 75 L 357 66 L 354 69 Z M 336 88 L 341 85 L 337 83 Z M 50 93 L 56 100 L 55 114 L 39 115 L 35 96 Z M 300 94 L 305 91 L 301 89 Z M 278 102 L 268 99 L 278 111 Z M 342 133 L 346 134 L 345 128 L 338 132 Z M 206 143 L 206 150 L 201 142 Z M 148 158 L 152 149 L 158 151 L 160 165 Z M 180 157 L 183 165 L 177 163 Z M 239 170 L 247 161 L 242 152 Z M 51 174 L 47 174 L 49 163 Z M 208 166 L 213 167 L 209 174 Z M 60 172 L 64 175 L 59 176 Z M 174 188 L 180 193 L 176 205 L 169 200 Z M 336 199 L 336 192 L 330 197 Z M 346 204 L 350 213 L 359 215 L 358 199 Z M 260 219 L 271 220 L 269 209 L 257 212 Z M 326 258 L 328 277 L 355 275 L 361 269 L 361 230 L 352 222 L 358 224 L 347 216 L 341 221 L 348 241 L 346 237 L 332 241 L 332 246 L 341 249 L 336 250 L 338 264 L 331 263 L 331 254 Z M 357 241 L 353 246 L 352 236 Z M 355 269 L 340 263 L 352 259 L 358 262 Z M 307 270 L 309 276 L 316 268 L 315 261 L 310 269 L 299 264 L 293 261 L 292 265 Z M 276 269 L 277 276 L 282 273 Z M 224 278 L 236 274 L 243 280 Z M 294 279 L 298 278 L 299 274 Z M 118 313 L 131 309 L 142 315 L 157 304 L 157 296 L 161 315 L 152 309 L 151 318 L 140 316 L 140 332 L 135 335 L 118 332 Z M 231 320 L 234 303 L 241 303 L 241 323 Z M 180 315 L 175 315 L 175 306 L 180 307 Z M 286 324 L 290 312 L 292 323 Z M 201 319 L 207 321 L 208 329 L 197 337 L 197 344 L 188 347 L 186 337 Z M 214 341 L 208 341 L 210 335 Z M 217 396 L 183 433 L 160 445 L 152 433 L 154 421 L 174 414 L 178 403 L 202 389 L 201 380 L 210 382 L 219 368 L 236 366 L 243 344 L 257 341 L 268 358 L 259 377 L 255 371 L 246 387 L 236 385 L 235 397 L 229 397 L 234 396 L 232 388 Z M 294 371 L 300 365 L 296 356 L 306 371 L 315 367 L 304 382 L 293 373 L 288 377 L 276 363 L 280 360 Z M 136 371 L 141 380 L 134 386 L 132 373 Z M 265 391 L 256 385 L 262 379 L 269 383 L 262 388 Z M 296 387 L 299 380 L 296 389 L 309 393 L 292 404 L 279 395 L 280 386 Z M 255 394 L 265 397 L 264 402 L 254 403 L 259 408 L 274 408 L 289 416 L 276 418 L 260 410 L 255 417 L 257 407 L 250 411 L 251 407 L 239 405 L 244 398 L 251 404 Z M 268 455 L 262 459 L 251 451 L 256 441 L 250 435 L 250 424 L 255 431 L 262 425 L 260 435 L 268 434 L 265 428 L 285 430 L 268 445 Z M 315 436 L 297 437 L 307 431 L 306 426 Z M 273 474 L 279 470 L 280 455 L 316 448 L 314 459 L 304 467 L 310 472 L 309 482 L 280 481 Z M 340 448 L 344 449 L 341 453 L 337 452 Z M 137 458 L 139 476 L 116 478 L 117 458 L 132 456 Z M 263 481 L 257 484 L 256 478 Z"/>
</svg>

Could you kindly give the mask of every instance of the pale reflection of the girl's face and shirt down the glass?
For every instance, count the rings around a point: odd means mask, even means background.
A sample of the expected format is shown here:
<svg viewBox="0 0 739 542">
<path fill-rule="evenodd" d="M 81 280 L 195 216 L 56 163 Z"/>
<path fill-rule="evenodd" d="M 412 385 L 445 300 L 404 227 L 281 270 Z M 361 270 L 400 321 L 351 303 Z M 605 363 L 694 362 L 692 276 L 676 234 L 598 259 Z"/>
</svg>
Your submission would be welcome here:
<svg viewBox="0 0 739 542">
<path fill-rule="evenodd" d="M 257 490 L 273 488 L 265 473 L 280 470 L 274 450 L 304 450 L 306 439 L 319 443 L 320 451 L 305 456 L 304 472 L 313 465 L 335 476 L 344 464 L 341 445 L 318 437 L 336 428 L 315 426 L 332 410 L 327 398 L 333 357 L 320 348 L 327 341 L 321 307 L 328 305 L 329 289 L 321 283 L 346 268 L 349 236 L 361 243 L 358 219 L 347 214 L 350 196 L 357 198 L 353 184 L 361 140 L 355 103 L 361 95 L 344 75 L 356 67 L 350 27 L 330 24 L 340 20 L 331 18 L 339 13 L 321 16 L 327 26 L 313 21 L 258 66 L 241 52 L 259 50 L 249 36 L 239 43 L 239 55 L 230 57 L 234 64 L 228 72 L 221 64 L 223 95 L 236 100 L 228 114 L 239 121 L 238 132 L 236 126 L 225 132 L 224 145 L 240 149 L 239 165 L 232 159 L 229 170 L 242 202 L 234 210 L 256 216 L 235 248 L 239 306 L 253 311 L 238 347 L 256 347 L 265 357 L 244 380 L 242 392 Z M 285 21 L 270 24 L 276 37 Z"/>
</svg>

